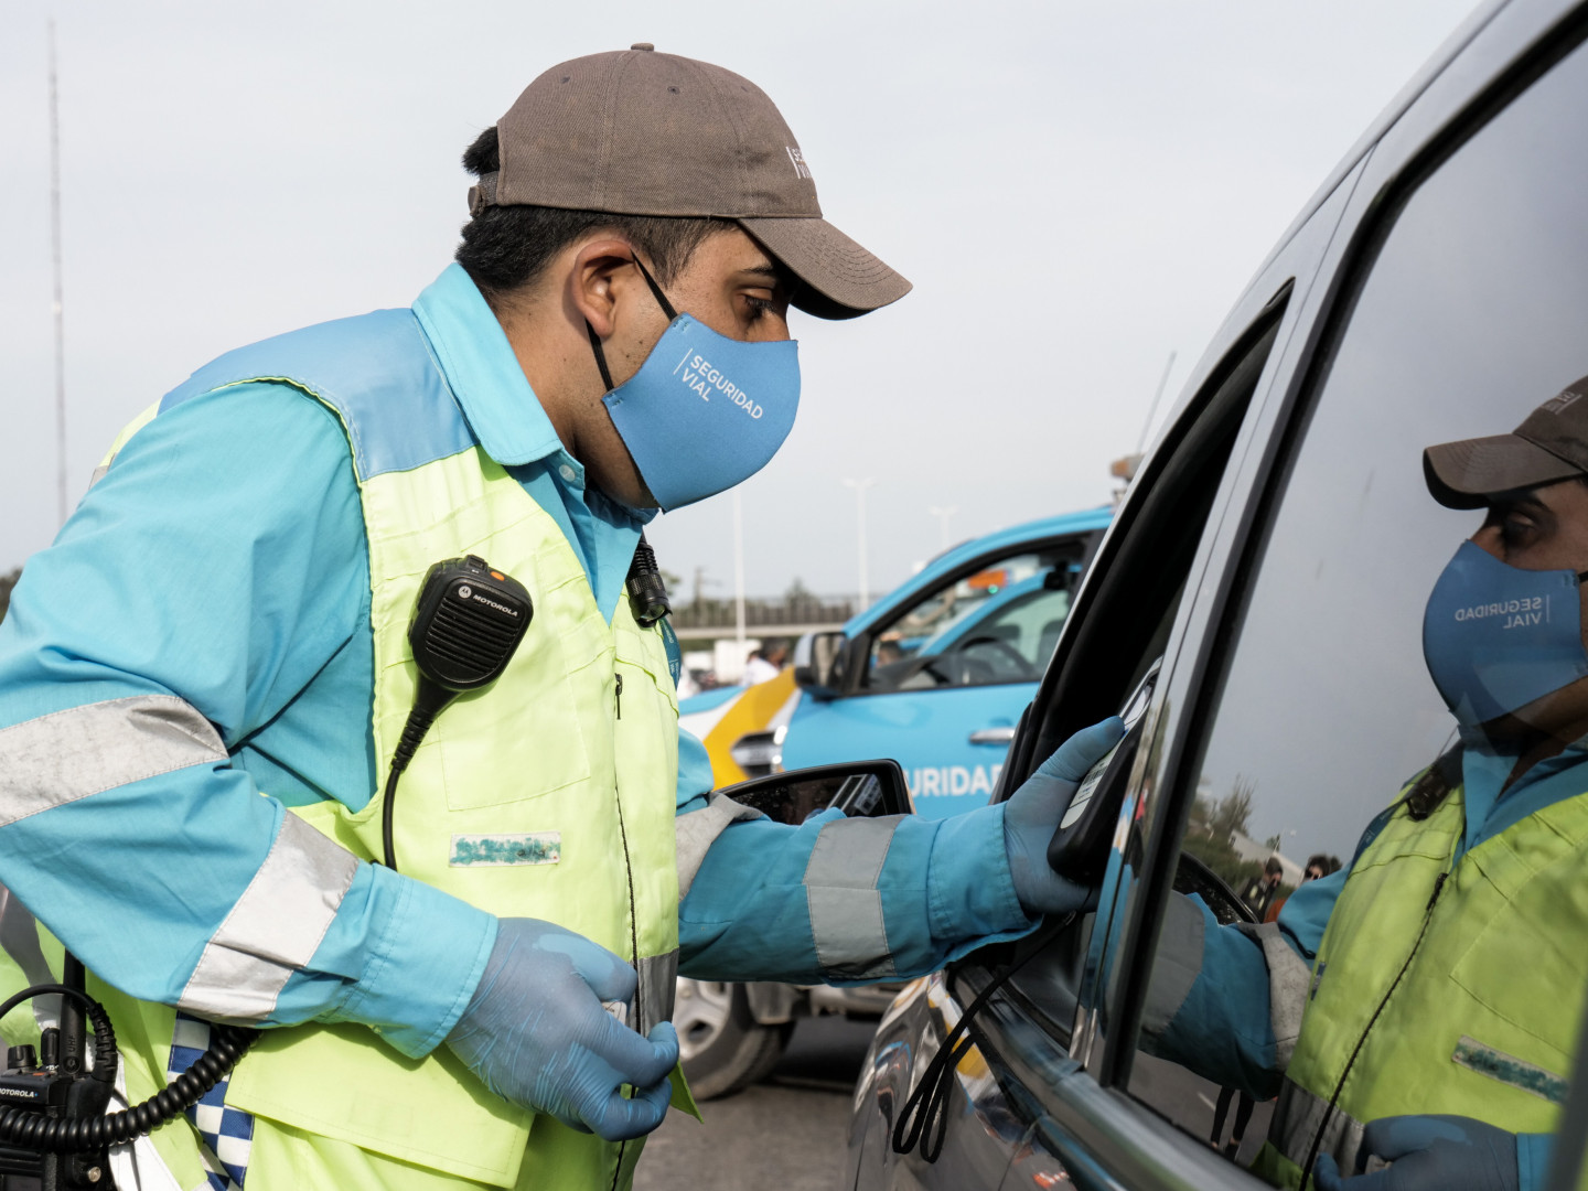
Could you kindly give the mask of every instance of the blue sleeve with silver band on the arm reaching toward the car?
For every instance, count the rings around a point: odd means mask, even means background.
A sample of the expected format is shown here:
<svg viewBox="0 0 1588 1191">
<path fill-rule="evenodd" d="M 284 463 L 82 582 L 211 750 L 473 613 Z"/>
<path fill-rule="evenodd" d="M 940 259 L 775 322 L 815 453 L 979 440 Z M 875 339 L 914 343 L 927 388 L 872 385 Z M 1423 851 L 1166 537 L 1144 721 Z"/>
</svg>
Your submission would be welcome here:
<svg viewBox="0 0 1588 1191">
<path fill-rule="evenodd" d="M 827 811 L 792 827 L 700 792 L 702 765 L 710 786 L 705 750 L 684 735 L 686 977 L 861 985 L 923 975 L 1037 926 L 1015 896 L 1002 807 L 948 819 Z"/>
</svg>

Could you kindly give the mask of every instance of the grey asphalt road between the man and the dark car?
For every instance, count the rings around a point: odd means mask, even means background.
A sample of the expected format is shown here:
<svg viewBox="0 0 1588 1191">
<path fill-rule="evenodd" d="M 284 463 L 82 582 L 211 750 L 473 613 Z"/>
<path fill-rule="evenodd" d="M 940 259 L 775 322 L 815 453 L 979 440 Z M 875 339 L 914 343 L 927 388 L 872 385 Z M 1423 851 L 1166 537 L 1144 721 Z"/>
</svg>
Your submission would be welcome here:
<svg viewBox="0 0 1588 1191">
<path fill-rule="evenodd" d="M 678 1110 L 645 1147 L 635 1191 L 837 1191 L 850 1093 L 873 1024 L 813 1018 L 794 1031 L 772 1080 Z"/>
</svg>

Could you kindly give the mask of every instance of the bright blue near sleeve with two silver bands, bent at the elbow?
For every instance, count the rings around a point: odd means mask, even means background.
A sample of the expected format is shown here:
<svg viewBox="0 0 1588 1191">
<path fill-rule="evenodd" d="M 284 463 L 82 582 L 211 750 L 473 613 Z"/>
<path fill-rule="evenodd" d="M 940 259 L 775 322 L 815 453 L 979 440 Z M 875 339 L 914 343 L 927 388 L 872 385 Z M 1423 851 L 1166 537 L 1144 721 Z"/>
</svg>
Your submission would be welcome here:
<svg viewBox="0 0 1588 1191">
<path fill-rule="evenodd" d="M 495 919 L 360 862 L 232 762 L 327 659 L 368 648 L 367 607 L 327 410 L 241 386 L 145 426 L 0 624 L 0 881 L 130 996 L 435 1046 Z"/>
</svg>

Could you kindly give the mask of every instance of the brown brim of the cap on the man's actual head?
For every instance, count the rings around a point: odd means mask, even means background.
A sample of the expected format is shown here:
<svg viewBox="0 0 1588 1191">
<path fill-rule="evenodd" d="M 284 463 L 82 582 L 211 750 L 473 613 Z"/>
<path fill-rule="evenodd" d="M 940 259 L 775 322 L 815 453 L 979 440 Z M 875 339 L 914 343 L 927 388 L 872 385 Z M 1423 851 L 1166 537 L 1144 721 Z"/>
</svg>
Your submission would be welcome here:
<svg viewBox="0 0 1588 1191">
<path fill-rule="evenodd" d="M 912 286 L 826 219 L 740 219 L 804 284 L 794 305 L 819 319 L 853 319 L 897 302 Z"/>
</svg>

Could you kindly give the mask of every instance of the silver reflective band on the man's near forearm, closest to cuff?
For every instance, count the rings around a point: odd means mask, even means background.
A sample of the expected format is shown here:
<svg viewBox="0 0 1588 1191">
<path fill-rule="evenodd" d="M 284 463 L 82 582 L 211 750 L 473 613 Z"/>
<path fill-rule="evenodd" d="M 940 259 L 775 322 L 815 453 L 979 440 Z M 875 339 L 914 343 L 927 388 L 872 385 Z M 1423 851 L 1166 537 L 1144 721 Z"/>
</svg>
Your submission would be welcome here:
<svg viewBox="0 0 1588 1191">
<path fill-rule="evenodd" d="M 326 937 L 359 861 L 287 811 L 254 880 L 205 945 L 178 1008 L 259 1021 Z"/>
</svg>

